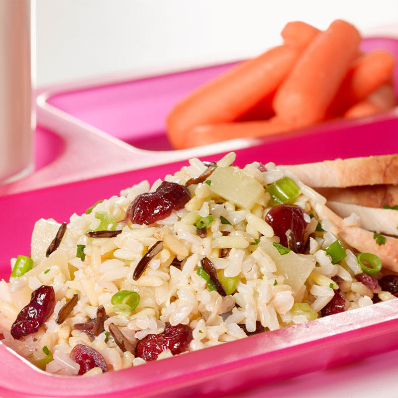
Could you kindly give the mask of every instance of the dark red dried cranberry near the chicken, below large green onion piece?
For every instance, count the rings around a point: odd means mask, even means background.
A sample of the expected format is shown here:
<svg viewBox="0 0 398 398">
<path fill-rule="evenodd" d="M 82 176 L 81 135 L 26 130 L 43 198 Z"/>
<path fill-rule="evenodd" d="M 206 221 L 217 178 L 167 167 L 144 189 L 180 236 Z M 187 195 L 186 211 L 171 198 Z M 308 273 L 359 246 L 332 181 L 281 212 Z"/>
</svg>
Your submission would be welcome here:
<svg viewBox="0 0 398 398">
<path fill-rule="evenodd" d="M 304 214 L 306 212 L 301 207 L 279 204 L 272 207 L 265 216 L 265 221 L 271 225 L 281 245 L 295 253 L 302 253 L 304 250 L 304 234 L 307 226 Z"/>
</svg>

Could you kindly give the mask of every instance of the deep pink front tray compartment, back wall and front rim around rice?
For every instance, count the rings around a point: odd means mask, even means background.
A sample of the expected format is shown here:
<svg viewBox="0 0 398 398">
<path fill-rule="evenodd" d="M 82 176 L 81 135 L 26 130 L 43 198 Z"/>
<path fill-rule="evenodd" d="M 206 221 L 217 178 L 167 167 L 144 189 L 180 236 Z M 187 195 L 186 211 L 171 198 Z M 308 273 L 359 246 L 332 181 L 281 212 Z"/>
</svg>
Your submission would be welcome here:
<svg viewBox="0 0 398 398">
<path fill-rule="evenodd" d="M 328 127 L 316 135 L 307 132 L 301 137 L 285 137 L 239 149 L 236 164 L 386 154 L 397 147 L 398 119 L 339 130 L 332 125 Z M 219 156 L 205 159 L 214 160 Z M 11 256 L 29 253 L 30 233 L 38 218 L 66 221 L 73 212 L 82 213 L 92 203 L 117 194 L 121 188 L 143 178 L 152 182 L 183 164 L 186 161 L 0 198 L 0 207 L 7 209 L 2 214 L 3 231 L 4 228 L 6 231 L 0 251 L 1 276 L 9 275 Z M 0 344 L 1 361 L 7 363 L 0 376 L 0 396 L 220 396 L 397 348 L 396 300 L 93 378 L 45 374 Z"/>
</svg>

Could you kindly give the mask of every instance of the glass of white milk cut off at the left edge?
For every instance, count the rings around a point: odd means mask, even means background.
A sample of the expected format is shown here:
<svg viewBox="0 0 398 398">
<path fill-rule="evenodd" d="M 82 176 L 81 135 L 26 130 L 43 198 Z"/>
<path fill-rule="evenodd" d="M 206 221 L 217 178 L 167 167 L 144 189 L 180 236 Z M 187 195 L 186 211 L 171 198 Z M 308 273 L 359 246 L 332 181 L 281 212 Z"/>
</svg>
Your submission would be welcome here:
<svg viewBox="0 0 398 398">
<path fill-rule="evenodd" d="M 30 0 L 0 0 L 0 184 L 33 170 Z"/>
</svg>

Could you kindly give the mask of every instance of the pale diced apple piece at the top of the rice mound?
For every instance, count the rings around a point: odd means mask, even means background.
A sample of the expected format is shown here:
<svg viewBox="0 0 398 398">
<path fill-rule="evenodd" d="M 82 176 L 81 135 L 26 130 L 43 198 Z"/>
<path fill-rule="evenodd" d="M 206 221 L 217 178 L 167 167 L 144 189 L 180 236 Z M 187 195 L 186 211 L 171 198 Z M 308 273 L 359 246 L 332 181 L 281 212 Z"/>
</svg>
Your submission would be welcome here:
<svg viewBox="0 0 398 398">
<path fill-rule="evenodd" d="M 264 193 L 264 187 L 238 167 L 217 167 L 209 179 L 214 194 L 248 210 Z"/>
</svg>

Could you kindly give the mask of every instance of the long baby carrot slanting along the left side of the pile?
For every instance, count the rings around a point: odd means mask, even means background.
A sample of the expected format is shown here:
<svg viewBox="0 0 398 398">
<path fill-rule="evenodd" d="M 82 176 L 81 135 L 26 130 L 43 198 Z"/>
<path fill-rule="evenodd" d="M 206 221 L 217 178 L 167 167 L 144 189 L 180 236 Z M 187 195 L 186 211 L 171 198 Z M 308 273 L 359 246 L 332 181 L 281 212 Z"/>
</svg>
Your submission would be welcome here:
<svg viewBox="0 0 398 398">
<path fill-rule="evenodd" d="M 167 118 L 172 145 L 177 149 L 186 147 L 187 133 L 195 126 L 237 120 L 281 84 L 298 55 L 294 46 L 274 47 L 180 101 Z"/>
</svg>

